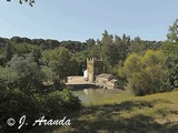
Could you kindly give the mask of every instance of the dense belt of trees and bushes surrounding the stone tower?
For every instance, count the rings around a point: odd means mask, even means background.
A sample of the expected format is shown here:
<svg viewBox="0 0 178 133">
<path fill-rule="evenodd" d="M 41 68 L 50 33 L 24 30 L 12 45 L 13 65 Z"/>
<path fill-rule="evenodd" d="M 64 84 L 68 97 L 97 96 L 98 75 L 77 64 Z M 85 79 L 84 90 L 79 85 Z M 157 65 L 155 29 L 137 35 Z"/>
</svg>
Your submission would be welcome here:
<svg viewBox="0 0 178 133">
<path fill-rule="evenodd" d="M 87 58 L 102 59 L 105 72 L 116 75 L 135 95 L 177 89 L 177 25 L 178 20 L 164 42 L 113 37 L 107 31 L 101 40 L 86 42 L 0 38 L 0 124 L 7 130 L 10 116 L 26 114 L 33 121 L 79 110 L 80 100 L 63 83 L 68 75 L 82 74 Z"/>
</svg>

